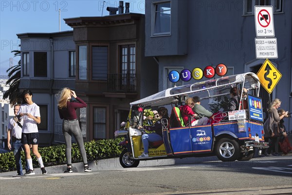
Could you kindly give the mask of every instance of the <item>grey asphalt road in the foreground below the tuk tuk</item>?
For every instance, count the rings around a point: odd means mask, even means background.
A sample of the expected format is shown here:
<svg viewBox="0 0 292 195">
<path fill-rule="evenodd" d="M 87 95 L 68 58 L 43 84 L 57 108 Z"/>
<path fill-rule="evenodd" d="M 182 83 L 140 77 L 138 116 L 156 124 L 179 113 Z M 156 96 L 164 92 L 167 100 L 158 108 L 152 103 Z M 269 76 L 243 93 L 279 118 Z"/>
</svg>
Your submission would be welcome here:
<svg viewBox="0 0 292 195">
<path fill-rule="evenodd" d="M 143 162 L 146 161 L 141 161 Z M 49 171 L 48 171 L 49 172 Z M 0 174 L 1 195 L 292 195 L 292 156 L 140 166 L 71 174 Z"/>
</svg>

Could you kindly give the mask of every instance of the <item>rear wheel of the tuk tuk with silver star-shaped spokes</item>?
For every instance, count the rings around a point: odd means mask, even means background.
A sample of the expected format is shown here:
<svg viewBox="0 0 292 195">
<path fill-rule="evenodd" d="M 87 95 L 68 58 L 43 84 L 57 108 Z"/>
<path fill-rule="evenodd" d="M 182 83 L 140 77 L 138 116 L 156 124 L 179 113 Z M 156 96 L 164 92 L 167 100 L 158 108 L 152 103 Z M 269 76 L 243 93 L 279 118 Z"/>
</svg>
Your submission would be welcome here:
<svg viewBox="0 0 292 195">
<path fill-rule="evenodd" d="M 223 162 L 235 161 L 240 155 L 239 144 L 234 139 L 221 138 L 216 143 L 215 154 Z"/>
</svg>

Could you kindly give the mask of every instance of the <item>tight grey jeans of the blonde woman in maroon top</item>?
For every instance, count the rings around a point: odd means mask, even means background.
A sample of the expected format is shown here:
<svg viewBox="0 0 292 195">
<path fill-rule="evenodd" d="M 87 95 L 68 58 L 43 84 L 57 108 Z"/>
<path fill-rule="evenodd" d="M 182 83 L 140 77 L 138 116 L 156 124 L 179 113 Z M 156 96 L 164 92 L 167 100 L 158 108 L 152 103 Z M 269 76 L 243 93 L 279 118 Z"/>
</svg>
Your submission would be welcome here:
<svg viewBox="0 0 292 195">
<path fill-rule="evenodd" d="M 81 134 L 78 120 L 63 120 L 63 136 L 65 138 L 65 143 L 66 143 L 67 165 L 68 166 L 71 165 L 71 162 L 72 162 L 72 156 L 71 156 L 72 135 L 75 137 L 77 144 L 79 146 L 83 163 L 84 165 L 87 165 L 86 151 L 84 148 L 83 137 Z"/>
</svg>

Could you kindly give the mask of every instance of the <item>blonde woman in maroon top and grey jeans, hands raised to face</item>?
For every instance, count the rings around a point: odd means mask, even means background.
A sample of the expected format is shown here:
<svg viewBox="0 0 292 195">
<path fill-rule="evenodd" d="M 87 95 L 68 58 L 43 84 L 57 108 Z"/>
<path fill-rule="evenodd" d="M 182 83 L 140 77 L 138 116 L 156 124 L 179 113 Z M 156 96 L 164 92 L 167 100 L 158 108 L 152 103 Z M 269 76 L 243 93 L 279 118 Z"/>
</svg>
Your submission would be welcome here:
<svg viewBox="0 0 292 195">
<path fill-rule="evenodd" d="M 78 98 L 75 92 L 69 88 L 63 88 L 60 92 L 60 99 L 58 101 L 59 116 L 63 119 L 63 135 L 66 143 L 66 159 L 67 159 L 67 170 L 64 173 L 72 173 L 72 135 L 75 137 L 77 144 L 80 149 L 80 153 L 84 163 L 84 171 L 90 172 L 91 169 L 88 167 L 86 151 L 84 148 L 83 137 L 77 120 L 76 109 L 85 108 L 87 104 L 80 98 Z M 79 102 L 71 100 L 72 96 Z"/>
</svg>

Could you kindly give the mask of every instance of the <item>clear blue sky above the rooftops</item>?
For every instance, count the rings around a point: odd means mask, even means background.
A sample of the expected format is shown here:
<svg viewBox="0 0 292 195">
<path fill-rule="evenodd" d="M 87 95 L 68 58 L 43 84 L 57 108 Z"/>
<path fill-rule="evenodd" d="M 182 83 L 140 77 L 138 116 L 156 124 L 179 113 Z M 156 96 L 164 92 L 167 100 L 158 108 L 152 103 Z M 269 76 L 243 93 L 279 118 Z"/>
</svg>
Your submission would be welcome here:
<svg viewBox="0 0 292 195">
<path fill-rule="evenodd" d="M 124 0 L 132 13 L 145 13 L 145 0 Z M 119 0 L 0 0 L 0 75 L 7 75 L 12 50 L 20 50 L 20 33 L 52 33 L 73 30 L 63 19 L 107 16 L 107 7 L 118 7 Z M 124 8 L 125 11 L 125 8 Z M 19 58 L 13 58 L 13 64 Z"/>
</svg>

